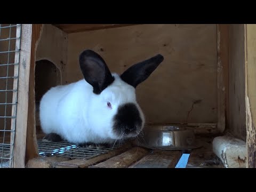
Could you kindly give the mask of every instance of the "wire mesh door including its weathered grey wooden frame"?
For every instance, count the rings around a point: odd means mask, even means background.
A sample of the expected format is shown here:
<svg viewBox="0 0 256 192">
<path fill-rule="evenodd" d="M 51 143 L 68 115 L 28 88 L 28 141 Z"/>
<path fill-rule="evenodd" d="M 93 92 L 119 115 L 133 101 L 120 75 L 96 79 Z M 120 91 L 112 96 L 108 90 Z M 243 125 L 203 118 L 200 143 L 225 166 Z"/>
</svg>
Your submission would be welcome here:
<svg viewBox="0 0 256 192">
<path fill-rule="evenodd" d="M 0 168 L 25 164 L 31 31 L 0 24 Z"/>
</svg>

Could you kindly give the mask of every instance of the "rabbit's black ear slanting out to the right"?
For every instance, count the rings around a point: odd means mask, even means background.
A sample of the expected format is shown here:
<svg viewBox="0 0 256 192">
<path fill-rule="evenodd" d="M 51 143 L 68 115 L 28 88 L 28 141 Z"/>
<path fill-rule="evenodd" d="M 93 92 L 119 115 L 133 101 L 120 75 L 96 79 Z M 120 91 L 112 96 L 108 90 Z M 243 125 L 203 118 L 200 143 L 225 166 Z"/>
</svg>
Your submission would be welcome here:
<svg viewBox="0 0 256 192">
<path fill-rule="evenodd" d="M 157 54 L 150 59 L 141 61 L 129 67 L 120 77 L 124 82 L 136 88 L 138 84 L 145 81 L 149 75 L 153 73 L 163 60 L 163 55 Z"/>
</svg>

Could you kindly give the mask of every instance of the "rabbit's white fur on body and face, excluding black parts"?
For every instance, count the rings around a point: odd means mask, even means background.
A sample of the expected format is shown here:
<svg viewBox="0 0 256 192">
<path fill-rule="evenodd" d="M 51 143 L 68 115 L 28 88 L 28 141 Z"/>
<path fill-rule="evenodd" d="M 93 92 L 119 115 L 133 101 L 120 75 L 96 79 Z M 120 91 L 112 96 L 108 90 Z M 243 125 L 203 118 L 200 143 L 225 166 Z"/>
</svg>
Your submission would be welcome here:
<svg viewBox="0 0 256 192">
<path fill-rule="evenodd" d="M 101 94 L 94 94 L 93 87 L 81 79 L 68 85 L 52 87 L 39 106 L 39 118 L 44 133 L 57 133 L 69 142 L 113 142 L 121 139 L 113 132 L 113 117 L 118 106 L 134 103 L 142 119 L 145 117 L 136 101 L 135 89 L 125 83 L 116 73 L 115 81 Z M 107 106 L 111 103 L 112 109 Z M 135 135 L 127 135 L 126 137 Z"/>
</svg>

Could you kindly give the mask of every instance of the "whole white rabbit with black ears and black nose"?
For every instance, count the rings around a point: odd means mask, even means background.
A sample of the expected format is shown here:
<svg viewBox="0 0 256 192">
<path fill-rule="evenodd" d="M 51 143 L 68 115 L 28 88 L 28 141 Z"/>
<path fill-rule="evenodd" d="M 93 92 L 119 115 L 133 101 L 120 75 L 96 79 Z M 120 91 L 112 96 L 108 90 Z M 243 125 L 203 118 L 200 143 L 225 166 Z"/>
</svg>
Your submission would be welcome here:
<svg viewBox="0 0 256 192">
<path fill-rule="evenodd" d="M 145 125 L 145 115 L 135 89 L 163 60 L 163 55 L 157 54 L 118 75 L 110 72 L 98 53 L 81 52 L 78 61 L 84 78 L 51 87 L 39 103 L 45 139 L 110 145 L 137 137 Z"/>
</svg>

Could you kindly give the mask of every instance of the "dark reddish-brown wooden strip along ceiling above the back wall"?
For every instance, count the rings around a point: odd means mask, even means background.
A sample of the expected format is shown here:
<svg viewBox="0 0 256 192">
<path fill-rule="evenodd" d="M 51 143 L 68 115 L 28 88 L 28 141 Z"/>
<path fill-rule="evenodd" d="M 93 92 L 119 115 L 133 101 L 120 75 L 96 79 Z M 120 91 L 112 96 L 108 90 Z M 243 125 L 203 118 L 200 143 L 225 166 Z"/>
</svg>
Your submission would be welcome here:
<svg viewBox="0 0 256 192">
<path fill-rule="evenodd" d="M 124 27 L 138 24 L 54 24 L 53 26 L 60 28 L 66 33 L 77 33 L 82 31 L 108 29 L 114 27 Z"/>
</svg>

